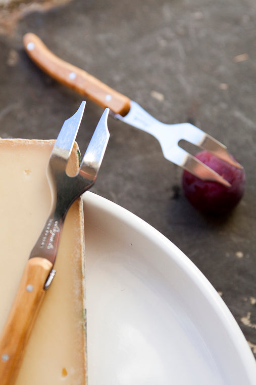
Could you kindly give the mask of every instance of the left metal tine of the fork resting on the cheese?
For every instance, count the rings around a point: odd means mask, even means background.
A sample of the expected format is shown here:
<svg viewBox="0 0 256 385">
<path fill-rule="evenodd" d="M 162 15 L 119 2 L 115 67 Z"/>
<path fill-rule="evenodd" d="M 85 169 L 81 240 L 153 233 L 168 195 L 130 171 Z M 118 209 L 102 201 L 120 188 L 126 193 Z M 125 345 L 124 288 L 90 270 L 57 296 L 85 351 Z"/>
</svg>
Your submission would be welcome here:
<svg viewBox="0 0 256 385">
<path fill-rule="evenodd" d="M 62 156 L 68 160 L 70 153 L 72 151 L 77 132 L 83 117 L 85 108 L 85 102 L 83 101 L 80 104 L 78 110 L 72 115 L 69 119 L 65 120 L 63 123 L 62 129 L 56 139 L 55 146 L 53 148 L 52 154 L 56 151 L 62 151 Z"/>
</svg>

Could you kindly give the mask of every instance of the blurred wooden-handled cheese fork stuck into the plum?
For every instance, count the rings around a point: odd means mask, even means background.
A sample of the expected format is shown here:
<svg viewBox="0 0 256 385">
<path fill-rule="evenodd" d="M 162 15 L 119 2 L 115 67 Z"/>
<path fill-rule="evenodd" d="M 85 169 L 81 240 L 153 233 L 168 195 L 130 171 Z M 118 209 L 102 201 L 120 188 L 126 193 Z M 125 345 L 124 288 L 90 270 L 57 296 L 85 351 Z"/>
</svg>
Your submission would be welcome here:
<svg viewBox="0 0 256 385">
<path fill-rule="evenodd" d="M 182 149 L 181 140 L 212 152 L 227 163 L 243 168 L 227 151 L 227 147 L 190 123 L 164 124 L 153 118 L 137 103 L 108 87 L 86 71 L 58 58 L 33 33 L 23 37 L 29 57 L 47 74 L 67 87 L 89 98 L 101 107 L 108 107 L 111 114 L 139 130 L 153 135 L 160 142 L 163 155 L 169 161 L 181 166 L 202 180 L 219 182 L 227 187 L 230 183 L 212 168 L 204 165 L 193 155 Z"/>
</svg>

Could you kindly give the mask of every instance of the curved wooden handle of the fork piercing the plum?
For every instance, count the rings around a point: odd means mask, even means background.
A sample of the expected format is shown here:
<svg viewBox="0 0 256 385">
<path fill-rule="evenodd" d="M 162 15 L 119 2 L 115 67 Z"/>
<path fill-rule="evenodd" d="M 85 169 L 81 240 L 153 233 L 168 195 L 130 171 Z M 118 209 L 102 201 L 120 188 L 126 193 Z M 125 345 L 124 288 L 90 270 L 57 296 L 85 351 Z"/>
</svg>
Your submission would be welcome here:
<svg viewBox="0 0 256 385">
<path fill-rule="evenodd" d="M 103 108 L 125 116 L 130 110 L 130 99 L 113 90 L 86 71 L 58 58 L 34 33 L 26 33 L 23 44 L 28 56 L 36 65 L 67 87 L 89 98 Z"/>
</svg>

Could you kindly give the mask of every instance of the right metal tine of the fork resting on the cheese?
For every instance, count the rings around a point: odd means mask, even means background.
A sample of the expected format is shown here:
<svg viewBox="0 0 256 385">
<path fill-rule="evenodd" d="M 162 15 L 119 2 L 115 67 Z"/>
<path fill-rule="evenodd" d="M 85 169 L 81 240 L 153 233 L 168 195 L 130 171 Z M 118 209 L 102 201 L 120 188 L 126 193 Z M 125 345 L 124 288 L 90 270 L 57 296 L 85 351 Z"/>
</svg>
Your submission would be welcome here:
<svg viewBox="0 0 256 385">
<path fill-rule="evenodd" d="M 81 162 L 81 170 L 87 174 L 93 173 L 93 179 L 97 176 L 110 137 L 107 124 L 109 111 L 106 108 L 101 115 Z"/>
</svg>

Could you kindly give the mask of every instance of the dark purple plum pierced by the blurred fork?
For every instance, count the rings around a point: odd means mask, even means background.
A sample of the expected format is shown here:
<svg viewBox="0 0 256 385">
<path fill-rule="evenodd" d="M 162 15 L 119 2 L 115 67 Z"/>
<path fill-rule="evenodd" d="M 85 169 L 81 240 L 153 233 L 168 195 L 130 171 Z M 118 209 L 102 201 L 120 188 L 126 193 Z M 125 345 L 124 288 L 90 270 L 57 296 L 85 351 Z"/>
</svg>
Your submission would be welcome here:
<svg viewBox="0 0 256 385">
<path fill-rule="evenodd" d="M 231 187 L 218 182 L 202 181 L 184 170 L 182 187 L 186 198 L 196 209 L 206 214 L 223 215 L 229 212 L 244 194 L 244 169 L 236 168 L 206 150 L 198 152 L 195 157 L 214 169 Z"/>
</svg>

